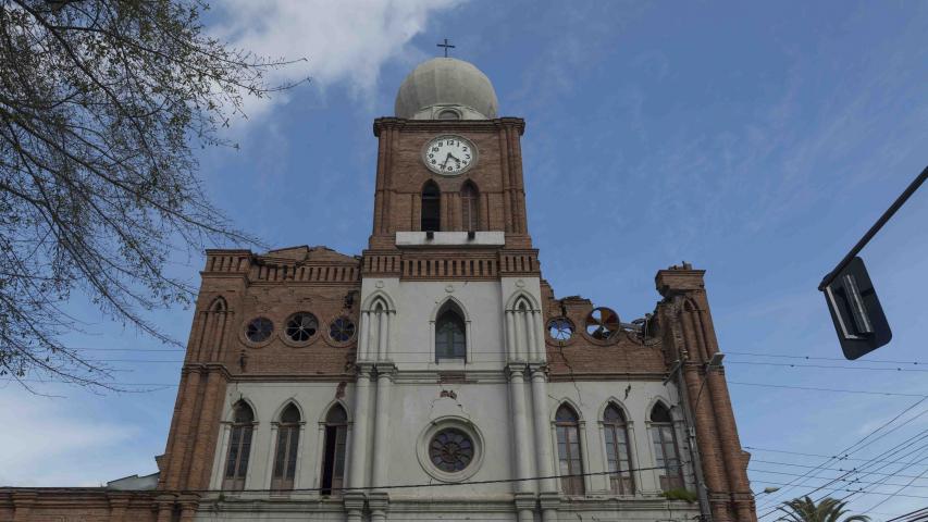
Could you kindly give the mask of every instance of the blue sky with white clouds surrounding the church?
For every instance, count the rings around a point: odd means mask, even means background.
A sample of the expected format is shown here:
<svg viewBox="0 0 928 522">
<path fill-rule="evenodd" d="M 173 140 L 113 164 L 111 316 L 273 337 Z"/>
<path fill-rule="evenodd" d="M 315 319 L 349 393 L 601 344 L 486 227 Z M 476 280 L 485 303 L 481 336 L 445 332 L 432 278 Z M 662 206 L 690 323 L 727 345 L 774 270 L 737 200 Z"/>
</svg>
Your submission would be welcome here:
<svg viewBox="0 0 928 522">
<path fill-rule="evenodd" d="M 893 326 L 889 346 L 854 363 L 746 355 L 840 357 L 816 286 L 928 164 L 925 4 L 261 5 L 219 2 L 210 30 L 262 53 L 308 58 L 279 78 L 308 74 L 312 83 L 270 102 L 249 102 L 250 117 L 230 130 L 240 149 L 207 149 L 200 162 L 213 201 L 269 246 L 361 251 L 371 227 L 371 122 L 393 113 L 405 75 L 436 55 L 435 44 L 447 37 L 457 46 L 454 57 L 493 80 L 500 114 L 527 121 L 529 227 L 544 276 L 559 297 L 579 294 L 623 320 L 639 318 L 659 298 L 655 272 L 686 260 L 707 270 L 730 381 L 928 394 L 924 372 L 881 370 L 928 364 L 868 362 L 928 362 L 920 299 L 928 289 L 928 188 L 863 253 Z M 196 281 L 201 263 L 196 256 L 183 258 L 176 270 Z M 79 298 L 72 306 L 87 309 Z M 136 350 L 88 352 L 129 360 L 112 363 L 131 371 L 125 382 L 177 382 L 182 353 L 137 351 L 165 347 L 85 315 L 92 335 L 74 336 L 75 345 Z M 186 339 L 189 310 L 152 318 Z M 834 455 L 917 400 L 735 384 L 730 389 L 743 445 L 816 455 Z M 44 390 L 66 398 L 0 390 L 0 484 L 96 485 L 154 471 L 175 388 L 124 395 Z M 910 410 L 878 435 L 899 430 L 853 458 L 875 457 L 928 430 L 928 414 L 916 417 L 926 408 Z M 917 461 L 928 456 L 924 444 L 895 458 Z M 789 483 L 796 477 L 788 473 L 825 460 L 752 453 L 755 490 Z M 892 465 L 880 472 L 900 468 Z M 928 474 L 928 460 L 899 473 L 921 472 Z M 859 481 L 879 478 L 884 476 Z M 758 504 L 822 482 L 807 480 Z M 928 480 L 913 486 L 921 487 L 901 495 L 928 497 Z M 886 495 L 855 495 L 851 508 L 884 520 L 928 505 L 901 495 L 874 510 Z"/>
</svg>

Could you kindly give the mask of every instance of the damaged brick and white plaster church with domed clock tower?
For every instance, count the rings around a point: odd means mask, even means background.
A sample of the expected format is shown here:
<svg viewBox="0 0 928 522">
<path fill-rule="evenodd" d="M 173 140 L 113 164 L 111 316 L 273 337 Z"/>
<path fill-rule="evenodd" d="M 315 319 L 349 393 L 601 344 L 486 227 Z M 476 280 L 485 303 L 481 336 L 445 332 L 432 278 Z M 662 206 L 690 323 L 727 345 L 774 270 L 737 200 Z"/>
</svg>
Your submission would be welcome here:
<svg viewBox="0 0 928 522">
<path fill-rule="evenodd" d="M 753 522 L 703 284 L 623 322 L 544 279 L 524 122 L 449 58 L 399 89 L 360 256 L 209 250 L 159 473 L 0 520 Z"/>
</svg>

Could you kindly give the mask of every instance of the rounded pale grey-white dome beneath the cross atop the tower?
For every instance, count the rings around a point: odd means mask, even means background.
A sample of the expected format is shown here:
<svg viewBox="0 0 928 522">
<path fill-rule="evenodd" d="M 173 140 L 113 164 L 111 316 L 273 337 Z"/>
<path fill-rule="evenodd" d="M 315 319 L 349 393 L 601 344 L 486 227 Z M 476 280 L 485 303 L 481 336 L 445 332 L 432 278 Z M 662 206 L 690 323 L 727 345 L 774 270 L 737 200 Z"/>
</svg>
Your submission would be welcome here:
<svg viewBox="0 0 928 522">
<path fill-rule="evenodd" d="M 490 120 L 496 91 L 479 69 L 454 58 L 420 63 L 399 86 L 395 113 L 407 120 Z"/>
</svg>

